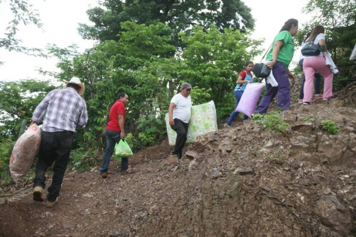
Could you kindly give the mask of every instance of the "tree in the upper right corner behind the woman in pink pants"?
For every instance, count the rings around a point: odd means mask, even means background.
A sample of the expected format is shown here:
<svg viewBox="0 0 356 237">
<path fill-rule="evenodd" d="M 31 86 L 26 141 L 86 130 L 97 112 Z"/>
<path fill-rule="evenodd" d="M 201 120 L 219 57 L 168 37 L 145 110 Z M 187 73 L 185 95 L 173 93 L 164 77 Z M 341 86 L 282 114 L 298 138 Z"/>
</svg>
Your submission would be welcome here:
<svg viewBox="0 0 356 237">
<path fill-rule="evenodd" d="M 326 45 L 340 77 L 354 77 L 356 69 L 349 62 L 349 57 L 356 43 L 356 1 L 310 0 L 303 12 L 314 16 L 299 30 L 298 42 L 301 43 L 316 25 L 324 26 Z"/>
</svg>

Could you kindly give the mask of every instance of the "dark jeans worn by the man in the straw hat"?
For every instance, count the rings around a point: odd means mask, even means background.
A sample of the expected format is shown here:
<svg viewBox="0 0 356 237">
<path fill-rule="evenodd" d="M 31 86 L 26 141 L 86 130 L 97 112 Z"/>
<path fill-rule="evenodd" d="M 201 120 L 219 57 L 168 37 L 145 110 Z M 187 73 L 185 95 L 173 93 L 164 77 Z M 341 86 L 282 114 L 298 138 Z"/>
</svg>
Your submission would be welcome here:
<svg viewBox="0 0 356 237">
<path fill-rule="evenodd" d="M 70 150 L 72 149 L 73 134 L 72 131 L 41 131 L 41 145 L 38 152 L 33 187 L 46 187 L 45 173 L 47 168 L 54 162 L 52 184 L 48 187 L 48 201 L 56 200 L 59 196 L 59 191 L 61 191 L 63 176 L 66 172 Z"/>
</svg>

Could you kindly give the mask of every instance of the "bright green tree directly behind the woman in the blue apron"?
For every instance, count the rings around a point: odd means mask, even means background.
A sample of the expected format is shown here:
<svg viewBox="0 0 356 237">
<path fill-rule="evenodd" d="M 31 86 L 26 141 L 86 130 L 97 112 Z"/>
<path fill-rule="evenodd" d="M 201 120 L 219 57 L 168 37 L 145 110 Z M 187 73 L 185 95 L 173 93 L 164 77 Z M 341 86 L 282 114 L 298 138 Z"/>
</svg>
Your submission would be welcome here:
<svg viewBox="0 0 356 237">
<path fill-rule="evenodd" d="M 179 71 L 179 79 L 209 90 L 219 119 L 233 109 L 235 98 L 232 89 L 238 73 L 244 70 L 246 61 L 261 52 L 257 50 L 261 41 L 246 35 L 248 33 L 232 28 L 221 32 L 214 25 L 207 30 L 201 26 L 194 27 L 191 35 L 180 33 L 187 46 L 182 53 L 185 67 Z"/>
</svg>

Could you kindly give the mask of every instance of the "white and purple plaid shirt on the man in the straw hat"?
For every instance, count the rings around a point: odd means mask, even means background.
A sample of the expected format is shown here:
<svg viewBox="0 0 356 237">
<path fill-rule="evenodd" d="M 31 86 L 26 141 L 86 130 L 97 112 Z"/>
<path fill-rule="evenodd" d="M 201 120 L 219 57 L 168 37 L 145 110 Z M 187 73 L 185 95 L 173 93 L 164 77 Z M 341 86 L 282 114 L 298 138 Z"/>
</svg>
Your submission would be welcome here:
<svg viewBox="0 0 356 237">
<path fill-rule="evenodd" d="M 46 132 L 75 132 L 77 125 L 83 127 L 88 122 L 87 105 L 71 87 L 49 92 L 36 107 L 32 120 L 40 123 L 45 113 L 42 130 Z"/>
</svg>

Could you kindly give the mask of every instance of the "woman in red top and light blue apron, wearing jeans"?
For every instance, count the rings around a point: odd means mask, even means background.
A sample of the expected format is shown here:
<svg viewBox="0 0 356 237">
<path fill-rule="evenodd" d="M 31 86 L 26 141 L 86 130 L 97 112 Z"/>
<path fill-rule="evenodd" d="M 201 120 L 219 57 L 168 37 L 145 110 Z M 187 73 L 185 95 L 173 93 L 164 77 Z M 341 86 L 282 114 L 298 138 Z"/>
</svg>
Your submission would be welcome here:
<svg viewBox="0 0 356 237">
<path fill-rule="evenodd" d="M 239 112 L 235 112 L 235 110 L 236 110 L 237 105 L 240 102 L 242 94 L 245 91 L 246 85 L 248 83 L 253 83 L 253 76 L 251 74 L 252 68 L 253 68 L 253 62 L 248 61 L 245 63 L 246 70 L 240 72 L 240 74 L 239 74 L 239 78 L 236 81 L 236 86 L 235 86 L 235 90 L 234 90 L 234 95 L 236 98 L 236 106 L 235 106 L 234 111 L 232 111 L 229 119 L 224 124 L 225 128 L 230 128 L 232 121 L 234 120 L 236 115 L 239 114 Z M 247 119 L 248 119 L 248 117 L 246 115 L 244 115 L 244 120 L 247 120 Z"/>
</svg>

